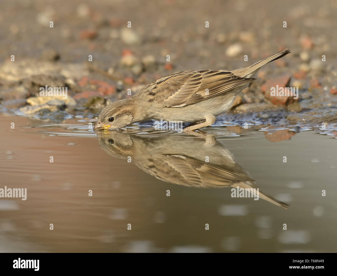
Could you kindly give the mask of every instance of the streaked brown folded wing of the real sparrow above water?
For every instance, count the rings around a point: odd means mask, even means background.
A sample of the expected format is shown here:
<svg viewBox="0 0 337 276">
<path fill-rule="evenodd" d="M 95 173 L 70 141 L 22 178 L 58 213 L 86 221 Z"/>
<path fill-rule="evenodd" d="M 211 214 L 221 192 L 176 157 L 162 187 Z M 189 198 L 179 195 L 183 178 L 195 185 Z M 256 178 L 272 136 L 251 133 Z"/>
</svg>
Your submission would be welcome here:
<svg viewBox="0 0 337 276">
<path fill-rule="evenodd" d="M 181 107 L 225 93 L 255 80 L 241 78 L 222 70 L 200 70 L 175 73 L 145 87 L 154 101 L 165 107 Z"/>
</svg>

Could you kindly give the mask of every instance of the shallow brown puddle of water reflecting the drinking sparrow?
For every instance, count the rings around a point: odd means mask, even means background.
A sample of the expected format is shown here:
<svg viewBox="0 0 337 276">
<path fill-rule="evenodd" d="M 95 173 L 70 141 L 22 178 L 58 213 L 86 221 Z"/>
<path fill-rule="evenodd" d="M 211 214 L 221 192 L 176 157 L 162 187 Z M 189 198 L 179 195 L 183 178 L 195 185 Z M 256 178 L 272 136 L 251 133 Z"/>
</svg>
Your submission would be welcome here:
<svg viewBox="0 0 337 276">
<path fill-rule="evenodd" d="M 335 125 L 65 122 L 1 117 L 0 188 L 27 188 L 0 198 L 1 252 L 337 250 Z"/>
</svg>

